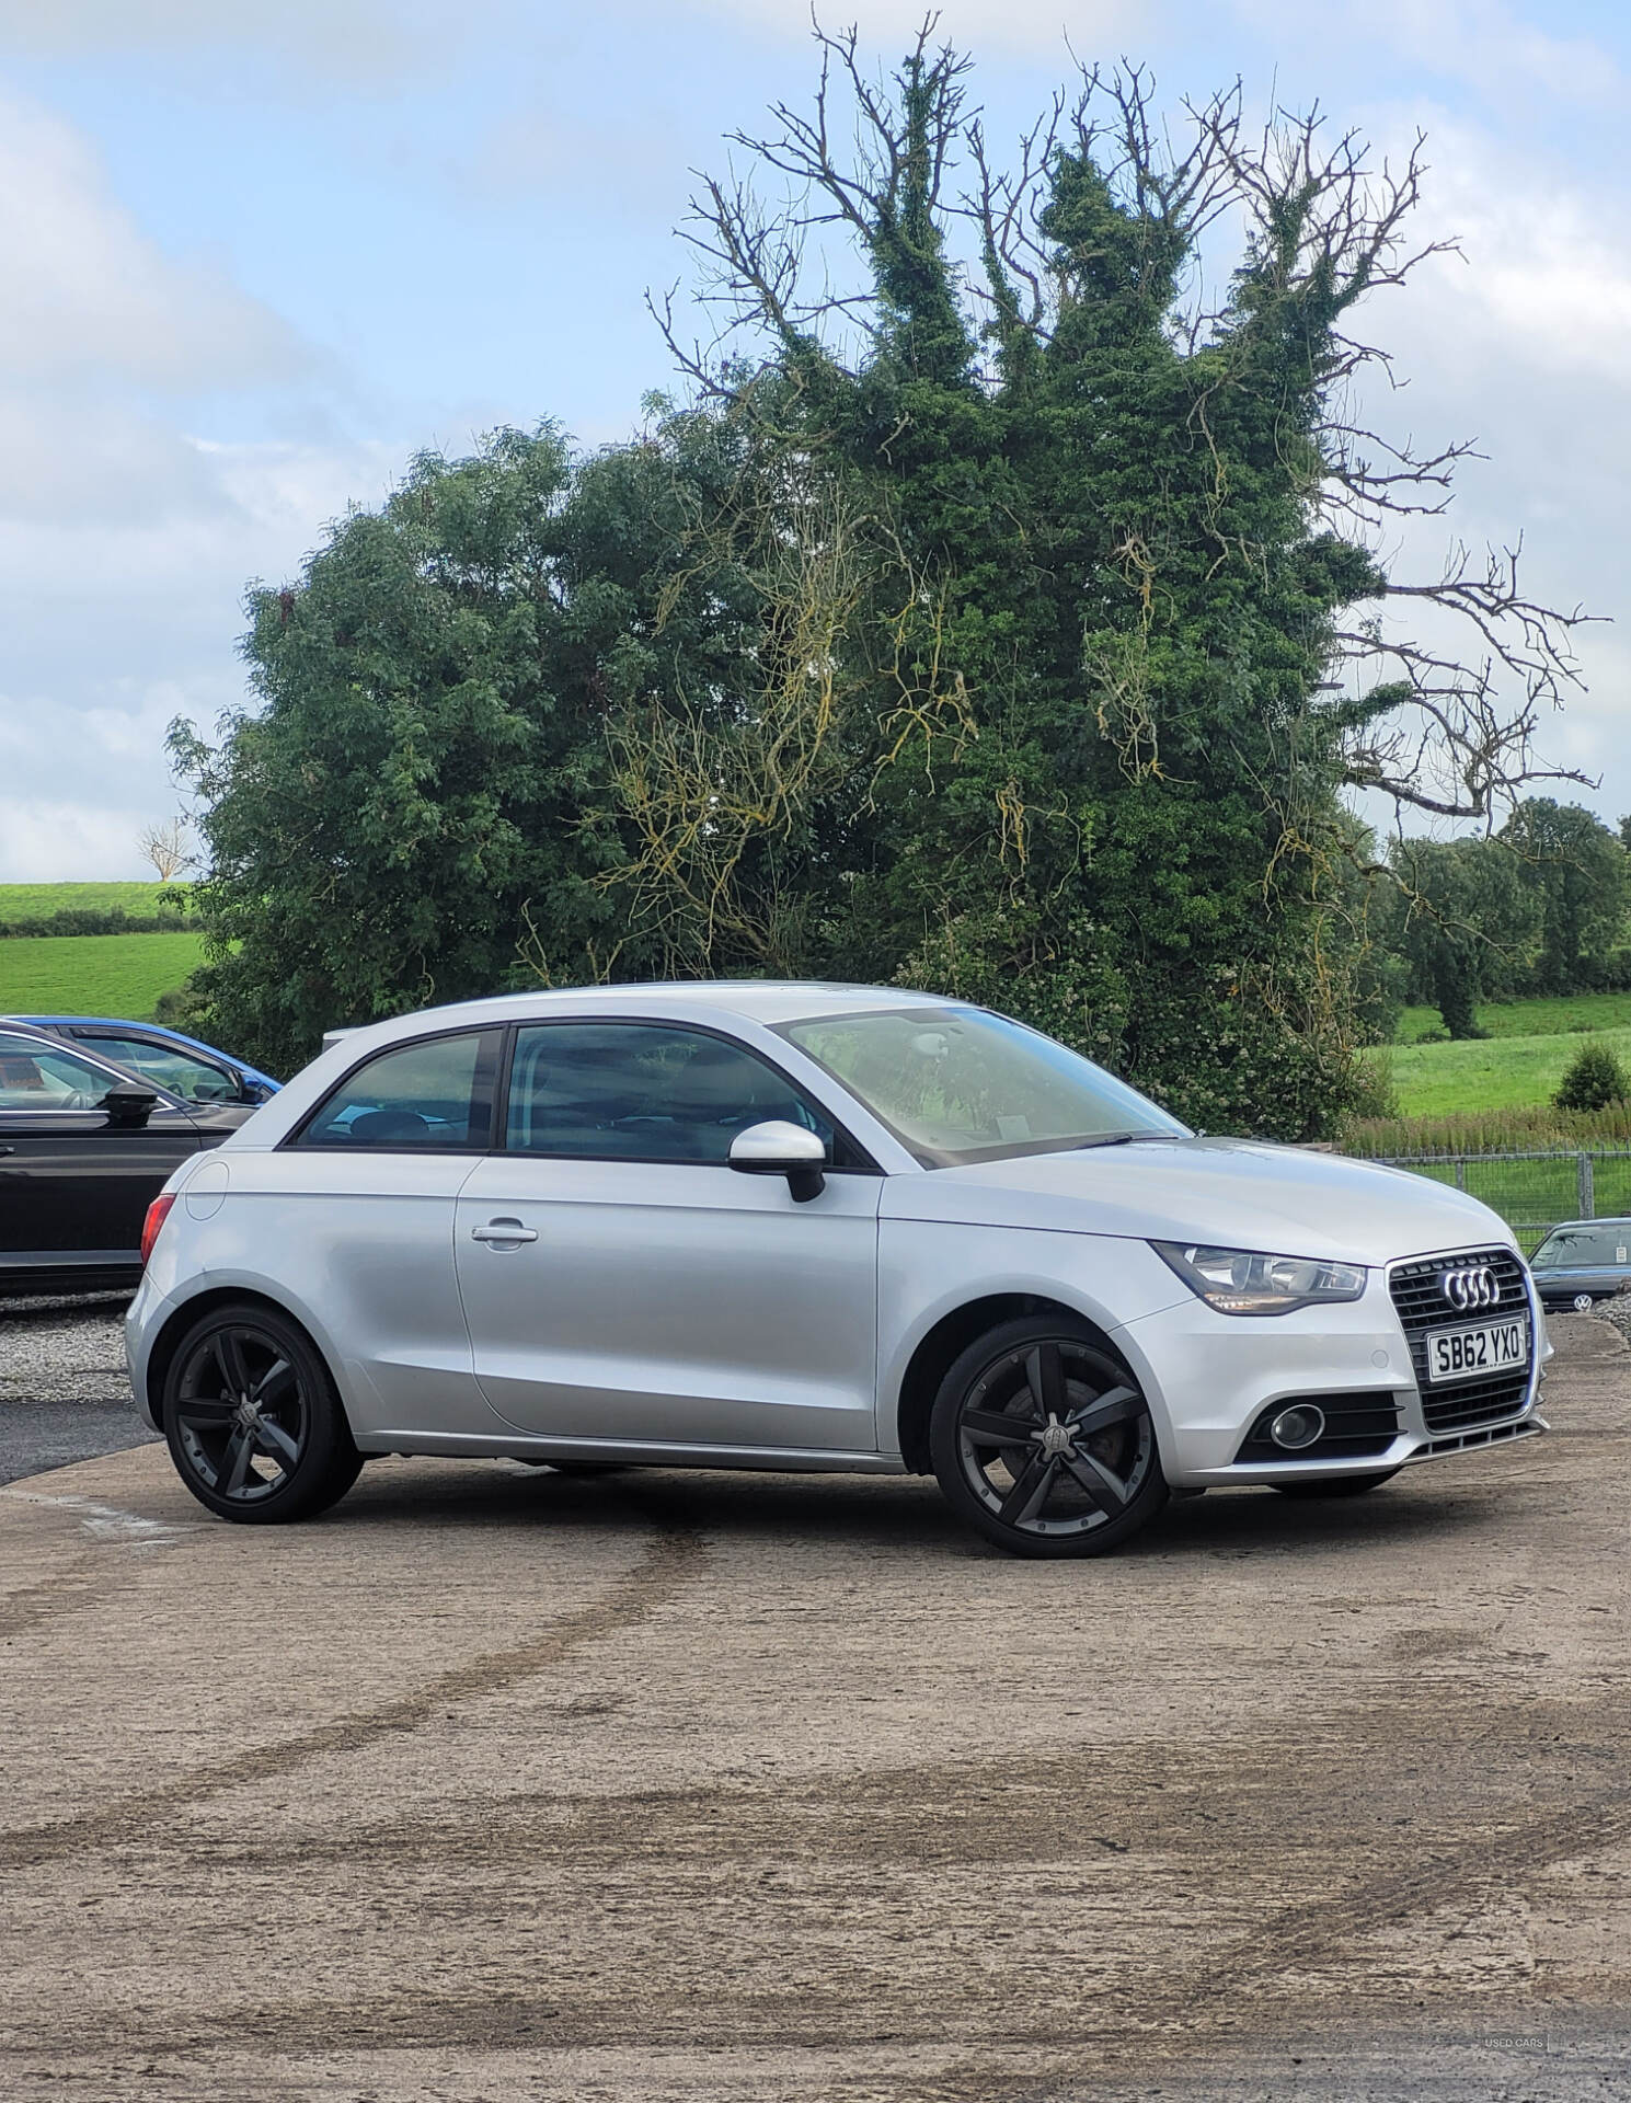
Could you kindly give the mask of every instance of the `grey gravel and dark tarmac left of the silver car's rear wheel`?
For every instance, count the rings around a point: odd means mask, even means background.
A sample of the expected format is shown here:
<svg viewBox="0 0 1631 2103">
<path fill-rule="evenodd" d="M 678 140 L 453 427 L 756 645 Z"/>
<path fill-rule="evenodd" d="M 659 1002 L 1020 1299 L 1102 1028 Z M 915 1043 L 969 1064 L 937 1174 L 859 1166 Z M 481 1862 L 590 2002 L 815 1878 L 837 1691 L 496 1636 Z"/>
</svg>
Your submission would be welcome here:
<svg viewBox="0 0 1631 2103">
<path fill-rule="evenodd" d="M 124 1306 L 0 1300 L 0 1483 L 151 1441 L 124 1373 Z"/>
</svg>

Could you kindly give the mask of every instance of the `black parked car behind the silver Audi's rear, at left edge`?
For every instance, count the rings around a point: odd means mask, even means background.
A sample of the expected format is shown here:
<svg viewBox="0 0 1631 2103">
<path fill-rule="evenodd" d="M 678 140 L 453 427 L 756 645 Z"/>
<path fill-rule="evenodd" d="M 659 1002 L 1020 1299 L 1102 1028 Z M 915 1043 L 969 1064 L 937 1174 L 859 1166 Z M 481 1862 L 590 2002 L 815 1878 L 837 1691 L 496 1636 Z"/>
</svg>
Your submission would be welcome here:
<svg viewBox="0 0 1631 2103">
<path fill-rule="evenodd" d="M 137 1285 L 147 1205 L 252 1108 L 183 1104 L 80 1045 L 0 1024 L 0 1293 Z"/>
</svg>

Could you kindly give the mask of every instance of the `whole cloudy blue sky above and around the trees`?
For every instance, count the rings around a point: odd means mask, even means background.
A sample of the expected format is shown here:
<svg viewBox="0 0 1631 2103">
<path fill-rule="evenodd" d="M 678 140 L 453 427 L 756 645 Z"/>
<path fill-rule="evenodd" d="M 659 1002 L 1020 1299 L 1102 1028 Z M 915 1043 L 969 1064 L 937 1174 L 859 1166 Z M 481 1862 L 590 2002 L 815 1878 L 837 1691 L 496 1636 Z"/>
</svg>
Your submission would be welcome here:
<svg viewBox="0 0 1631 2103">
<path fill-rule="evenodd" d="M 849 0 L 879 57 L 916 0 Z M 1587 601 L 1549 753 L 1631 810 L 1631 25 L 1612 0 L 946 0 L 1013 132 L 1082 59 L 1162 97 L 1429 132 L 1372 414 L 1478 437 L 1454 526 L 1524 532 Z M 248 578 L 298 570 L 425 444 L 557 416 L 626 433 L 647 286 L 723 135 L 811 82 L 805 0 L 0 0 L 0 881 L 143 875 L 162 734 L 242 694 Z"/>
</svg>

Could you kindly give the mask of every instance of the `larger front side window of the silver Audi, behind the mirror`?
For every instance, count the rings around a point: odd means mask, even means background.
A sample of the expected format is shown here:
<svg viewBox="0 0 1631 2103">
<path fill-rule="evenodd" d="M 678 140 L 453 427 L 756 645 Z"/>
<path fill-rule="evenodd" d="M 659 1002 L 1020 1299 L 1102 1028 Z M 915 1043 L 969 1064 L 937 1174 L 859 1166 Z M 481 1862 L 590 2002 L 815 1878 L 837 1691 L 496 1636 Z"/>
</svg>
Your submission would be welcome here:
<svg viewBox="0 0 1631 2103">
<path fill-rule="evenodd" d="M 832 1161 L 830 1119 L 721 1037 L 656 1022 L 546 1022 L 515 1037 L 513 1152 L 719 1165 L 769 1117 L 820 1131 Z"/>
</svg>

